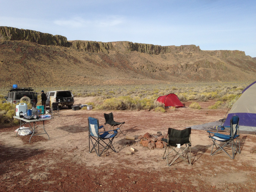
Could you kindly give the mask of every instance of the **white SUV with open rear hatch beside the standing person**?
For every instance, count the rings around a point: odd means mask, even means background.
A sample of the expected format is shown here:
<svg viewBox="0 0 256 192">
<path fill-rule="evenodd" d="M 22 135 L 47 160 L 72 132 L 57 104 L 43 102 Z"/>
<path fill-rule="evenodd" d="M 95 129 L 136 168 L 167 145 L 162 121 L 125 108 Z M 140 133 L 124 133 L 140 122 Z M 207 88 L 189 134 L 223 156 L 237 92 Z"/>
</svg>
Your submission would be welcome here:
<svg viewBox="0 0 256 192">
<path fill-rule="evenodd" d="M 74 96 L 70 90 L 61 90 L 61 91 L 49 91 L 46 92 L 46 105 L 52 102 L 59 102 L 59 107 L 68 106 L 69 109 L 72 108 L 74 104 Z"/>
</svg>

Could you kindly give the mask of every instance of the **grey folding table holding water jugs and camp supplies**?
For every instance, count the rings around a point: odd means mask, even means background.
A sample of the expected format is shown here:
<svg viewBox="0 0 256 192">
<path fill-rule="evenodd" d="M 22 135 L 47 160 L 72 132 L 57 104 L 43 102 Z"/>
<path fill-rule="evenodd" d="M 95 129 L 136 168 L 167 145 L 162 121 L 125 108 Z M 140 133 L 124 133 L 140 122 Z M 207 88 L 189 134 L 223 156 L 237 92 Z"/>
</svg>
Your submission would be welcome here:
<svg viewBox="0 0 256 192">
<path fill-rule="evenodd" d="M 45 129 L 44 129 L 44 121 L 52 119 L 51 117 L 50 117 L 50 118 L 42 118 L 42 119 L 41 119 L 41 118 L 40 118 L 40 119 L 32 119 L 32 120 L 24 119 L 24 118 L 21 118 L 21 117 L 19 117 L 19 116 L 13 116 L 13 118 L 20 120 L 20 127 L 19 127 L 19 129 L 18 129 L 18 131 L 17 131 L 17 133 L 16 133 L 16 137 L 18 136 L 19 130 L 22 130 L 22 129 L 20 129 L 20 128 L 21 128 L 21 125 L 29 124 L 29 129 L 32 129 L 32 130 L 33 130 L 32 135 L 31 135 L 31 137 L 30 137 L 30 139 L 29 139 L 29 143 L 30 143 L 31 138 L 32 138 L 33 136 L 35 136 L 35 135 L 47 134 L 48 139 L 50 140 L 50 137 L 49 137 L 48 133 L 47 133 L 47 132 L 45 131 Z M 37 128 L 37 127 L 40 127 L 39 125 L 36 124 L 36 122 L 38 122 L 38 121 L 43 121 L 43 127 L 41 127 L 41 128 L 44 129 L 44 133 L 37 133 L 37 134 L 35 134 L 36 128 Z M 33 122 L 33 127 L 30 125 L 30 123 L 32 123 L 32 122 Z"/>
</svg>

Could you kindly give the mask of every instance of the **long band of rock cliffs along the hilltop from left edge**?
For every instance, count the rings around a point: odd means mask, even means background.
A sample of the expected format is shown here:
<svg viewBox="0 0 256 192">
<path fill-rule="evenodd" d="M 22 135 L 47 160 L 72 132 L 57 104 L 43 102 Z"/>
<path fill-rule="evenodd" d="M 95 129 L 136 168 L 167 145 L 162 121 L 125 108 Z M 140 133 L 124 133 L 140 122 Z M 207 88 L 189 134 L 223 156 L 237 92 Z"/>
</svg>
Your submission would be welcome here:
<svg viewBox="0 0 256 192">
<path fill-rule="evenodd" d="M 122 53 L 128 52 L 141 52 L 152 55 L 158 55 L 160 53 L 178 53 L 178 52 L 195 52 L 200 51 L 199 46 L 196 45 L 181 45 L 181 46 L 160 46 L 153 44 L 140 44 L 132 43 L 129 41 L 118 42 L 96 42 L 96 41 L 67 41 L 67 38 L 60 35 L 52 35 L 48 33 L 41 33 L 39 31 L 18 29 L 12 27 L 0 26 L 0 39 L 2 40 L 25 40 L 34 42 L 41 45 L 58 45 L 63 47 L 72 47 L 76 50 L 82 50 L 86 52 L 104 52 L 118 51 Z"/>
</svg>

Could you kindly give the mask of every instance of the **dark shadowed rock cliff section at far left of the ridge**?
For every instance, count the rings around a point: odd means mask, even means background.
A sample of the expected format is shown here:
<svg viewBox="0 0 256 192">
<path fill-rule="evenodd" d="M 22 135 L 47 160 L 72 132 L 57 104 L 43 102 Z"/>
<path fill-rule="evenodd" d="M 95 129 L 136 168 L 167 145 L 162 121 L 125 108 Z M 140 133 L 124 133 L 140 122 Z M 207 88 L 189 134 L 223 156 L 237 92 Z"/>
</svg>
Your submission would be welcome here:
<svg viewBox="0 0 256 192">
<path fill-rule="evenodd" d="M 41 33 L 28 29 L 18 29 L 13 27 L 0 26 L 0 39 L 2 40 L 25 40 L 41 45 L 59 45 L 70 46 L 67 38 L 60 35 L 52 35 L 49 33 Z"/>
</svg>

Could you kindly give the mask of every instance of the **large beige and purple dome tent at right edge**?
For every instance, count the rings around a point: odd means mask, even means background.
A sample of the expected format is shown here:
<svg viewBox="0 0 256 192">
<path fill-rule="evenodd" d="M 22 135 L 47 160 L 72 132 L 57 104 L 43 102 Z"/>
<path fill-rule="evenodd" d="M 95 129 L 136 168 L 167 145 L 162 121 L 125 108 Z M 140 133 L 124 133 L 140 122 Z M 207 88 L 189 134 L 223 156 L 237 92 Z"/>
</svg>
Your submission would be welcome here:
<svg viewBox="0 0 256 192">
<path fill-rule="evenodd" d="M 242 91 L 240 98 L 230 109 L 224 126 L 229 126 L 232 116 L 239 117 L 239 130 L 256 132 L 256 81 Z"/>
</svg>

